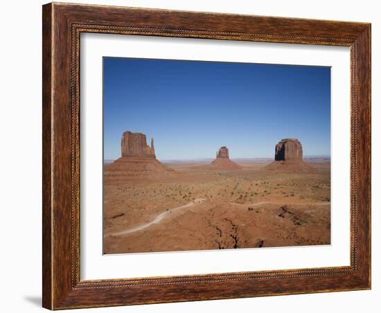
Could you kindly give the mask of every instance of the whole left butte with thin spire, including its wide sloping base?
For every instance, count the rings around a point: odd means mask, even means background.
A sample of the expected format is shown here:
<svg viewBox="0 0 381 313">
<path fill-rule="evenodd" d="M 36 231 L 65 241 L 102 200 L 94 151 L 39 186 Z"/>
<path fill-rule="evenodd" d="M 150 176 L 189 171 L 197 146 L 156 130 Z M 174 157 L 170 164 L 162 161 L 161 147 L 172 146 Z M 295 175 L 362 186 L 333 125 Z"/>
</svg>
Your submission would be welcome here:
<svg viewBox="0 0 381 313">
<path fill-rule="evenodd" d="M 158 177 L 174 174 L 175 170 L 163 166 L 154 154 L 154 139 L 147 145 L 145 134 L 124 132 L 121 140 L 121 158 L 105 166 L 106 182 Z"/>
</svg>

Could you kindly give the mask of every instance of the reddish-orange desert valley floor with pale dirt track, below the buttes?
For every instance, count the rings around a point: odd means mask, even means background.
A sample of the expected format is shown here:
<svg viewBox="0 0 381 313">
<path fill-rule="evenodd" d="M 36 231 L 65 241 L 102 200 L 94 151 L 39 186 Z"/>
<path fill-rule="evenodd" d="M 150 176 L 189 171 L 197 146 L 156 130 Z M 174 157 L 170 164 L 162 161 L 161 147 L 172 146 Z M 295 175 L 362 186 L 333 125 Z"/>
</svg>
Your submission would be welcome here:
<svg viewBox="0 0 381 313">
<path fill-rule="evenodd" d="M 270 160 L 163 163 L 168 175 L 107 180 L 104 253 L 330 244 L 330 161 L 310 172 L 268 170 Z"/>
</svg>

